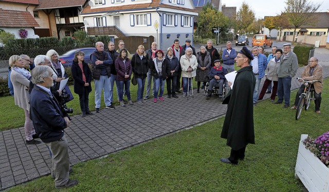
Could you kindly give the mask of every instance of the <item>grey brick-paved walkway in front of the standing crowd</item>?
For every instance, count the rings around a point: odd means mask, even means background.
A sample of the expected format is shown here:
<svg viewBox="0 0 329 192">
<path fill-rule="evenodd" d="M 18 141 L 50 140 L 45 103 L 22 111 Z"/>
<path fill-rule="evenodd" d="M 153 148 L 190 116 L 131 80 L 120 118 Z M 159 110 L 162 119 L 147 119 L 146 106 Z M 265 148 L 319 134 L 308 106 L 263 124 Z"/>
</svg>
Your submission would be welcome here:
<svg viewBox="0 0 329 192">
<path fill-rule="evenodd" d="M 323 76 L 329 77 L 329 57 L 320 64 L 323 65 Z M 296 77 L 302 70 L 299 68 Z M 291 89 L 299 87 L 300 83 L 294 78 Z M 264 99 L 269 96 L 265 94 Z M 293 102 L 293 99 L 290 98 L 290 101 Z M 206 100 L 202 93 L 196 94 L 194 90 L 194 98 L 189 100 L 179 94 L 178 99 L 165 97 L 163 102 L 148 100 L 142 106 L 117 106 L 115 110 L 103 109 L 85 118 L 73 116 L 70 127 L 65 130 L 70 164 L 99 158 L 184 130 L 218 118 L 226 110 L 227 105 L 222 105 L 219 99 L 212 97 Z M 26 145 L 24 127 L 0 132 L 0 190 L 49 175 L 50 167 L 46 145 Z"/>
</svg>

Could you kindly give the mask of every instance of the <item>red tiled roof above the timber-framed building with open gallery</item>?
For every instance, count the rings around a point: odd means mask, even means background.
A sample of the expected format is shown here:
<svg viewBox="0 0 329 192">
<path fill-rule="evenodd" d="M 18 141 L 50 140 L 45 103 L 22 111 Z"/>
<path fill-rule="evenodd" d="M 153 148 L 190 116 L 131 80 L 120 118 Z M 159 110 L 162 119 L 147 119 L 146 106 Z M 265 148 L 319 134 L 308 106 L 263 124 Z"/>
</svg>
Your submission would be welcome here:
<svg viewBox="0 0 329 192">
<path fill-rule="evenodd" d="M 39 6 L 36 9 L 54 9 L 54 8 L 64 8 L 64 7 L 77 7 L 82 6 L 86 3 L 86 0 L 39 0 Z"/>
</svg>

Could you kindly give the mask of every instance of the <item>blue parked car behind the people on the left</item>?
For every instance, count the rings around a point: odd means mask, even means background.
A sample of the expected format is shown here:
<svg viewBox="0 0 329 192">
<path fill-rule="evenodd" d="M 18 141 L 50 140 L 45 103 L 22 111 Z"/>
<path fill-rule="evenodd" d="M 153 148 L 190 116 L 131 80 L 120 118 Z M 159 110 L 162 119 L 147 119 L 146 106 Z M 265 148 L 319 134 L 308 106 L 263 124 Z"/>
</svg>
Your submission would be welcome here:
<svg viewBox="0 0 329 192">
<path fill-rule="evenodd" d="M 86 63 L 89 63 L 89 62 L 91 62 L 90 55 L 95 51 L 95 48 L 88 47 L 88 48 L 71 49 L 68 52 L 64 53 L 63 55 L 60 55 L 60 61 L 62 62 L 64 67 L 72 66 L 74 54 L 76 51 L 84 52 L 84 61 Z"/>
</svg>

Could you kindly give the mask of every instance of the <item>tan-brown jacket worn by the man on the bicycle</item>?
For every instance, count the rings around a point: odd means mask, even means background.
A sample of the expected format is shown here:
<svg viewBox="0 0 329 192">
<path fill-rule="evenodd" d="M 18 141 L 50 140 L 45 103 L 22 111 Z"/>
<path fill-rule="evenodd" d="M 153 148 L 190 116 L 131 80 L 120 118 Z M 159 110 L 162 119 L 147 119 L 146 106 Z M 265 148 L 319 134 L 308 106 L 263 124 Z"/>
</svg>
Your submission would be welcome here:
<svg viewBox="0 0 329 192">
<path fill-rule="evenodd" d="M 320 66 L 319 64 L 317 64 L 314 68 L 314 71 L 313 71 L 313 75 L 312 76 L 309 76 L 309 70 L 310 70 L 310 67 L 309 65 L 307 65 L 305 68 L 304 68 L 304 71 L 303 73 L 301 74 L 301 78 L 306 80 L 306 81 L 309 81 L 309 80 L 318 80 L 318 82 L 314 82 L 314 89 L 315 89 L 315 92 L 317 94 L 321 93 L 322 92 L 322 89 L 323 89 L 323 79 L 322 79 L 322 66 Z"/>
</svg>

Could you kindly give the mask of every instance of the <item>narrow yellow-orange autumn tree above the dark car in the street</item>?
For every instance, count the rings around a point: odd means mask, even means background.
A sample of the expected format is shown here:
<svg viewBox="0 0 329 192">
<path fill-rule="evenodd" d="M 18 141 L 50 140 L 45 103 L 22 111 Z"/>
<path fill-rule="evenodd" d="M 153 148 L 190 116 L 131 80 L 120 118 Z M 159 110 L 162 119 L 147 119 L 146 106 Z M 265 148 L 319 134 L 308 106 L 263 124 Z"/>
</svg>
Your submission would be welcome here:
<svg viewBox="0 0 329 192">
<path fill-rule="evenodd" d="M 243 30 L 243 34 L 245 34 L 246 29 L 253 23 L 254 20 L 255 13 L 250 10 L 247 3 L 243 2 L 236 14 L 236 28 L 239 29 L 240 33 L 242 32 L 241 30 Z"/>
</svg>

